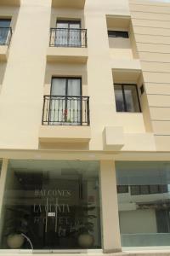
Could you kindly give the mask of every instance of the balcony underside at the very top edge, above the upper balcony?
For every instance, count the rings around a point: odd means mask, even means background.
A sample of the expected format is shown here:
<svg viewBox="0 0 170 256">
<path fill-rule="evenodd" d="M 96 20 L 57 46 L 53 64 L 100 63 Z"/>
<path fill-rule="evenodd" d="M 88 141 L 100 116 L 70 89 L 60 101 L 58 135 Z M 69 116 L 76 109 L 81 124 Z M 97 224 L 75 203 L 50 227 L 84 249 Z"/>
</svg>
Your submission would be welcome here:
<svg viewBox="0 0 170 256">
<path fill-rule="evenodd" d="M 52 7 L 83 9 L 85 2 L 86 0 L 52 0 Z"/>
</svg>

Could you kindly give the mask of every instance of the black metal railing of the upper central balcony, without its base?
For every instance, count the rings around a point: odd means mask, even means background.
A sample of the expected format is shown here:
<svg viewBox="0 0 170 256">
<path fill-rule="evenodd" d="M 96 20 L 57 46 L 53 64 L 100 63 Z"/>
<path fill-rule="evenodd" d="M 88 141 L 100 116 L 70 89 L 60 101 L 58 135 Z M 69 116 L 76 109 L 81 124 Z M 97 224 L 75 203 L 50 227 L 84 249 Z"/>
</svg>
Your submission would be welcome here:
<svg viewBox="0 0 170 256">
<path fill-rule="evenodd" d="M 51 28 L 49 46 L 87 47 L 87 30 L 76 28 Z"/>
</svg>

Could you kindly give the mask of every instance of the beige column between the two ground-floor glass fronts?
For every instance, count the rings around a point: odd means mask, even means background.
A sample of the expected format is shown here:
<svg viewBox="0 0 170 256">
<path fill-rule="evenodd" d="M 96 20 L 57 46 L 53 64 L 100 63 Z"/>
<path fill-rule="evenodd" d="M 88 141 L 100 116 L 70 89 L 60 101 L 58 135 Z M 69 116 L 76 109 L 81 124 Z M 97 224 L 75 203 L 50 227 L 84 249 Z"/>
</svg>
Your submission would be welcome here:
<svg viewBox="0 0 170 256">
<path fill-rule="evenodd" d="M 116 194 L 116 170 L 114 161 L 100 161 L 100 194 L 104 253 L 120 252 L 122 249 L 119 229 Z"/>
</svg>

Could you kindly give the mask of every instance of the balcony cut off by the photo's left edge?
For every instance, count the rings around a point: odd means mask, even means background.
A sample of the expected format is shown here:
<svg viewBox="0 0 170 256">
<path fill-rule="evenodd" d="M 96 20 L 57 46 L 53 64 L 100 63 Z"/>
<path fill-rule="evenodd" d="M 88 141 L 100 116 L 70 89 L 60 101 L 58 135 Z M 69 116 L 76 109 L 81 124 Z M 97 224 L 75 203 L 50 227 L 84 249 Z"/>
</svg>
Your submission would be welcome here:
<svg viewBox="0 0 170 256">
<path fill-rule="evenodd" d="M 0 27 L 0 61 L 7 61 L 8 46 L 12 38 L 11 27 Z"/>
</svg>

